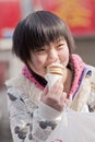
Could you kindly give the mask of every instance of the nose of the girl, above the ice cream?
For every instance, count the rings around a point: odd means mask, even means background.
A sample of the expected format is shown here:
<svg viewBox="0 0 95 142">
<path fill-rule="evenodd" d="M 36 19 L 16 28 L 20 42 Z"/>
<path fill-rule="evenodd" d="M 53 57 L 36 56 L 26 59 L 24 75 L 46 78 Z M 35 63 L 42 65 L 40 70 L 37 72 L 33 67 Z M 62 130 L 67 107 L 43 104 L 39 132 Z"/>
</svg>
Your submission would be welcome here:
<svg viewBox="0 0 95 142">
<path fill-rule="evenodd" d="M 48 54 L 48 62 L 54 63 L 58 61 L 58 51 L 55 48 L 51 48 Z"/>
</svg>

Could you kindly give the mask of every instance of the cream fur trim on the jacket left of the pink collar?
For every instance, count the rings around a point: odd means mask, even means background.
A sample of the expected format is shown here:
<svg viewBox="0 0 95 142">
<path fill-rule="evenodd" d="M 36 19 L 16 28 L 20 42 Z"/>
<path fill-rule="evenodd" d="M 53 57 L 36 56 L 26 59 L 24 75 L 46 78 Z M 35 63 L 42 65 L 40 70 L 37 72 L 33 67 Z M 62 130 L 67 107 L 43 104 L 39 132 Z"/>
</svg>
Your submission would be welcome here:
<svg viewBox="0 0 95 142">
<path fill-rule="evenodd" d="M 34 83 L 29 82 L 23 74 L 17 75 L 5 82 L 7 87 L 14 87 L 26 95 L 32 102 L 38 105 L 41 90 Z"/>
</svg>

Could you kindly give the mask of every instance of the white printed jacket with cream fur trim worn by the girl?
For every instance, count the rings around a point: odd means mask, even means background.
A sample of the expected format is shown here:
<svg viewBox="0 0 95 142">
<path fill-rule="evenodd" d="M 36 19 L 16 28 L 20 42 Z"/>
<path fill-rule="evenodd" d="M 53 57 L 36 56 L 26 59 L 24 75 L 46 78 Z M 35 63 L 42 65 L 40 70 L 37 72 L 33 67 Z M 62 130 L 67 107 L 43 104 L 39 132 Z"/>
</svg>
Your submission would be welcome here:
<svg viewBox="0 0 95 142">
<path fill-rule="evenodd" d="M 76 111 L 95 108 L 95 69 L 85 73 L 81 86 L 71 103 Z M 45 142 L 61 119 L 62 113 L 40 102 L 41 90 L 23 74 L 7 83 L 10 125 L 14 142 Z"/>
</svg>

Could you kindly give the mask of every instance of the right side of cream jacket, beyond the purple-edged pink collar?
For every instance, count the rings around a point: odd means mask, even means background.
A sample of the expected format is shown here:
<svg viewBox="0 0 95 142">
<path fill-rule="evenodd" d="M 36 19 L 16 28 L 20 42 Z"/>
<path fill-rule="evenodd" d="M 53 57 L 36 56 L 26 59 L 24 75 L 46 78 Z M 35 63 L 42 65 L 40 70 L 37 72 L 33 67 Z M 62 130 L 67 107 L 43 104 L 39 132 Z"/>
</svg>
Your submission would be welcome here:
<svg viewBox="0 0 95 142">
<path fill-rule="evenodd" d="M 95 111 L 95 68 L 87 66 L 92 74 L 86 74 L 71 108 L 76 111 Z"/>
</svg>

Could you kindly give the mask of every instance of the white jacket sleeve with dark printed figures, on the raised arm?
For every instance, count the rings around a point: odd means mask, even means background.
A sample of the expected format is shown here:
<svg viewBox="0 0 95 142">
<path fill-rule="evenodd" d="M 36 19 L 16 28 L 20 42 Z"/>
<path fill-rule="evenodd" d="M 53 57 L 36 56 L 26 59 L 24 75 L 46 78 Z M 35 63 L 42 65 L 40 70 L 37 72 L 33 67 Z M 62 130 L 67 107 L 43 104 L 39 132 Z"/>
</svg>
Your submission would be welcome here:
<svg viewBox="0 0 95 142">
<path fill-rule="evenodd" d="M 8 109 L 13 142 L 45 142 L 61 117 L 43 103 L 38 107 L 14 87 L 8 88 Z"/>
</svg>

